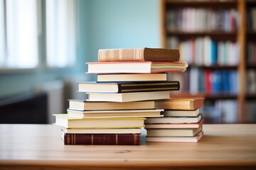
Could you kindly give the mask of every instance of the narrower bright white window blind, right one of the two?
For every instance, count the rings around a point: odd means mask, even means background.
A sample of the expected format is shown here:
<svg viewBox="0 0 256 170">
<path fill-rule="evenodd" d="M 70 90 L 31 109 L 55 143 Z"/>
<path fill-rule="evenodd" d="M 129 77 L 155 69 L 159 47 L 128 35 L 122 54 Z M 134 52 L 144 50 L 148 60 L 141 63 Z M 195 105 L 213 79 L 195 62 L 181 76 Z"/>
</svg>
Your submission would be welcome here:
<svg viewBox="0 0 256 170">
<path fill-rule="evenodd" d="M 74 0 L 46 0 L 46 51 L 49 67 L 75 63 Z"/>
</svg>

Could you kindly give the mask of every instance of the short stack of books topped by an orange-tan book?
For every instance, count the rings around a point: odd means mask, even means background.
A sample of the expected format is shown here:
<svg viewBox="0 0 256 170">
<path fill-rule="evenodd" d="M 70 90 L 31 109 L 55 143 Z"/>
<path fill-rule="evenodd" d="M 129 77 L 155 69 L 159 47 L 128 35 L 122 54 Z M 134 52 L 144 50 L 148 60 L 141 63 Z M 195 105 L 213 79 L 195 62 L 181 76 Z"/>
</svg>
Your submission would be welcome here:
<svg viewBox="0 0 256 170">
<path fill-rule="evenodd" d="M 204 98 L 169 98 L 156 101 L 164 117 L 145 121 L 147 142 L 199 142 L 203 137 Z"/>
</svg>

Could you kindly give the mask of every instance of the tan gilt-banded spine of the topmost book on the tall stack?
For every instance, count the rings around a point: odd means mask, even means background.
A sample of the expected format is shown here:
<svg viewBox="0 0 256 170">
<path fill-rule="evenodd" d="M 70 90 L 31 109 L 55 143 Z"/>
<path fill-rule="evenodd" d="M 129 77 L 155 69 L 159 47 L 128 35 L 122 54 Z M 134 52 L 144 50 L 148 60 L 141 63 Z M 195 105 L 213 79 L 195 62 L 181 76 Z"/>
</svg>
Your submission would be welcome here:
<svg viewBox="0 0 256 170">
<path fill-rule="evenodd" d="M 144 62 L 144 48 L 100 49 L 98 62 Z"/>
</svg>

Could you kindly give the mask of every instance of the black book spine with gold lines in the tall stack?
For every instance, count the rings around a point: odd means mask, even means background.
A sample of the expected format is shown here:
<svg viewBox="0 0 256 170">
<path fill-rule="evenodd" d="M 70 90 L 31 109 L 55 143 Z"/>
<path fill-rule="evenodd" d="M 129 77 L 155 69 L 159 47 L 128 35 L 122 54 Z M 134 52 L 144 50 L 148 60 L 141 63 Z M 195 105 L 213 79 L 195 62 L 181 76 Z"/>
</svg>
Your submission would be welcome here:
<svg viewBox="0 0 256 170">
<path fill-rule="evenodd" d="M 145 84 L 118 84 L 117 93 L 143 92 L 143 91 L 178 91 L 179 81 L 154 82 Z"/>
</svg>

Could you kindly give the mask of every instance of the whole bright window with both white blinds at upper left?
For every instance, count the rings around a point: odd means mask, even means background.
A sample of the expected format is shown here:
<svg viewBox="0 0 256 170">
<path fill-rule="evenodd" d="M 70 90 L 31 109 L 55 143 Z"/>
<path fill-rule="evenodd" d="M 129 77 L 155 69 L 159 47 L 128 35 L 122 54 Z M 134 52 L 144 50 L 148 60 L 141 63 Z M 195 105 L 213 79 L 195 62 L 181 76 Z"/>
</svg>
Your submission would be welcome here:
<svg viewBox="0 0 256 170">
<path fill-rule="evenodd" d="M 0 69 L 74 64 L 75 7 L 75 0 L 0 0 Z"/>
</svg>

